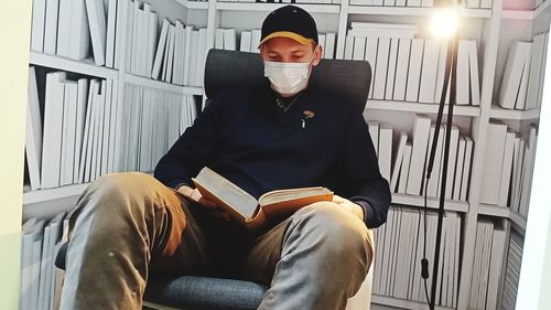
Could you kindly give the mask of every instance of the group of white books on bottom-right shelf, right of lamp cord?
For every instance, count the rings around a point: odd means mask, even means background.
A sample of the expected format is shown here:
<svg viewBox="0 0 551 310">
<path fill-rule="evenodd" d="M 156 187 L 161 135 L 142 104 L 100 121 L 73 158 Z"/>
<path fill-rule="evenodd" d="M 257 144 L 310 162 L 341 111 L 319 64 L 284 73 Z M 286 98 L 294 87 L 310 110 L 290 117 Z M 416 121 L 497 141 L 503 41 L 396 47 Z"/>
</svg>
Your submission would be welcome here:
<svg viewBox="0 0 551 310">
<path fill-rule="evenodd" d="M 505 243 L 505 227 L 489 220 L 478 221 L 468 309 L 497 309 Z"/>
</svg>

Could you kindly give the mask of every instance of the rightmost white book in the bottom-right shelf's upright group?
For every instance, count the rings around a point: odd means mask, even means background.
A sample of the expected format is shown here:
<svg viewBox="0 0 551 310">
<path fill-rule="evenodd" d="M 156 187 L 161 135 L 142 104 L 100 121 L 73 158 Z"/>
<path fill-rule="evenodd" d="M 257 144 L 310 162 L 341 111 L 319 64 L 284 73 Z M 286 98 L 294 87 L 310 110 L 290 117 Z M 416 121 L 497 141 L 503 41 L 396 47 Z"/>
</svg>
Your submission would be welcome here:
<svg viewBox="0 0 551 310">
<path fill-rule="evenodd" d="M 484 309 L 497 309 L 499 295 L 499 278 L 504 263 L 506 231 L 496 227 L 491 237 L 491 256 L 489 264 L 488 293 Z"/>
</svg>

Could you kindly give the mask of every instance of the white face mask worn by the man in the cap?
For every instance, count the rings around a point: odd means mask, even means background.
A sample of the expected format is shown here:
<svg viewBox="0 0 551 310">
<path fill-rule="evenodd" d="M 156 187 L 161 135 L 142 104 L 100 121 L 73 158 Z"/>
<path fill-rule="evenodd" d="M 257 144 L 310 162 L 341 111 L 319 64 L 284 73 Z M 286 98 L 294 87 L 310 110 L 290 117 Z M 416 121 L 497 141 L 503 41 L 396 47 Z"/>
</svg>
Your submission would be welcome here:
<svg viewBox="0 0 551 310">
<path fill-rule="evenodd" d="M 292 96 L 306 88 L 309 83 L 307 63 L 283 63 L 264 61 L 264 76 L 281 95 Z"/>
</svg>

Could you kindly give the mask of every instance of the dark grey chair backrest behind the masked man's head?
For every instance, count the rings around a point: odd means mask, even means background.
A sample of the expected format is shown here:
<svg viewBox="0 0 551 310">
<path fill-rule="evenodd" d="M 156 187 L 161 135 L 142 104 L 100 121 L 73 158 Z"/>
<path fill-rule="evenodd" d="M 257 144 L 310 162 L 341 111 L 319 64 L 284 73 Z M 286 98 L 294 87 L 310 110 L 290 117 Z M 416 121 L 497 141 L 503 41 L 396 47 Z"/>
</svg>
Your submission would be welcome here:
<svg viewBox="0 0 551 310">
<path fill-rule="evenodd" d="M 371 82 L 371 68 L 365 61 L 322 60 L 309 83 L 344 96 L 364 110 Z M 257 53 L 210 50 L 205 66 L 205 93 L 214 98 L 222 89 L 263 85 L 264 71 Z"/>
</svg>

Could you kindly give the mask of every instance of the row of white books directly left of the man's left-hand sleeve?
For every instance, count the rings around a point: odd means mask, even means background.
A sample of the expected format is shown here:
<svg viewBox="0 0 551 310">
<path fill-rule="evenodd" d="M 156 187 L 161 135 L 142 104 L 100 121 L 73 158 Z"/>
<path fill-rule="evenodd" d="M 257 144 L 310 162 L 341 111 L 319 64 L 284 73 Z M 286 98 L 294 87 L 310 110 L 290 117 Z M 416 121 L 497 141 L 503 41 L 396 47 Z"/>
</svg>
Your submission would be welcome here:
<svg viewBox="0 0 551 310">
<path fill-rule="evenodd" d="M 120 171 L 151 172 L 196 115 L 193 95 L 125 85 L 120 118 Z"/>
</svg>

